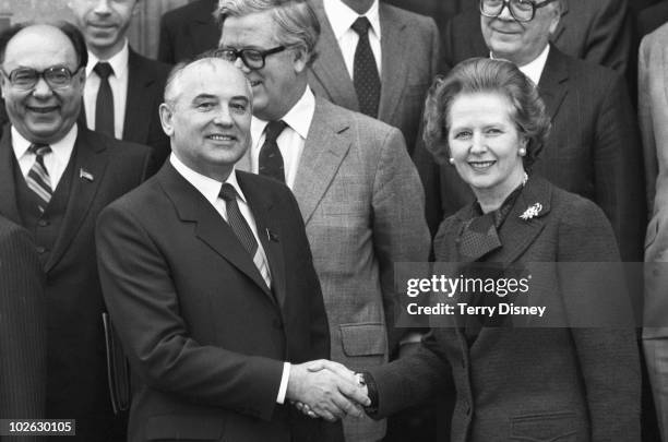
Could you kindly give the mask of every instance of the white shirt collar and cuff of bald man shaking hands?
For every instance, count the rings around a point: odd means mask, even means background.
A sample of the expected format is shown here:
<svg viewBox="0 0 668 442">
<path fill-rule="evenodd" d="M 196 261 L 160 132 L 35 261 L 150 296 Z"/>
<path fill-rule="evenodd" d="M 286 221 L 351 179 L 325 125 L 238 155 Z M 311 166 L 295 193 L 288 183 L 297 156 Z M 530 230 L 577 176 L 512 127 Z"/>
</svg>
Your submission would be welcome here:
<svg viewBox="0 0 668 442">
<path fill-rule="evenodd" d="M 220 194 L 220 188 L 223 183 L 220 181 L 216 181 L 213 178 L 208 178 L 200 172 L 192 170 L 190 167 L 186 166 L 174 153 L 169 156 L 169 162 L 174 166 L 177 172 L 179 172 L 188 182 L 190 182 L 205 199 L 211 203 L 211 205 L 220 214 L 223 219 L 227 222 L 227 208 L 225 200 L 223 200 Z M 225 181 L 228 184 L 231 184 L 237 191 L 237 203 L 239 204 L 239 211 L 246 222 L 250 226 L 253 231 L 253 236 L 255 237 L 255 241 L 258 241 L 258 250 L 262 254 L 262 259 L 269 263 L 266 259 L 266 254 L 264 253 L 264 249 L 262 248 L 262 242 L 260 242 L 260 237 L 258 236 L 258 226 L 255 225 L 255 218 L 251 213 L 250 207 L 248 206 L 248 202 L 246 201 L 246 195 L 243 191 L 239 187 L 239 182 L 237 182 L 237 174 L 232 170 L 227 177 Z M 278 404 L 283 404 L 285 402 L 285 394 L 287 392 L 287 383 L 290 377 L 290 363 L 284 362 L 283 365 L 283 377 L 281 378 L 281 386 L 278 387 L 278 395 L 276 397 L 276 402 Z"/>
</svg>

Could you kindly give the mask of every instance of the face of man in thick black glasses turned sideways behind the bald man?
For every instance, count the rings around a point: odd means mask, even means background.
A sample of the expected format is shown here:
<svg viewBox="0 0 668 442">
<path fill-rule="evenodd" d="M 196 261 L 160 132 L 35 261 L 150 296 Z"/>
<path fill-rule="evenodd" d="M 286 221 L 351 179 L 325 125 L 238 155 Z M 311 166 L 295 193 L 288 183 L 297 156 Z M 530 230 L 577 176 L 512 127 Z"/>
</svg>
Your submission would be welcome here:
<svg viewBox="0 0 668 442">
<path fill-rule="evenodd" d="M 267 50 L 284 46 L 276 38 L 278 24 L 272 11 L 225 19 L 220 48 Z M 253 88 L 253 114 L 263 120 L 278 120 L 299 100 L 307 85 L 306 51 L 288 48 L 265 58 L 264 68 L 248 69 L 241 59 L 235 65 L 241 69 Z"/>
</svg>

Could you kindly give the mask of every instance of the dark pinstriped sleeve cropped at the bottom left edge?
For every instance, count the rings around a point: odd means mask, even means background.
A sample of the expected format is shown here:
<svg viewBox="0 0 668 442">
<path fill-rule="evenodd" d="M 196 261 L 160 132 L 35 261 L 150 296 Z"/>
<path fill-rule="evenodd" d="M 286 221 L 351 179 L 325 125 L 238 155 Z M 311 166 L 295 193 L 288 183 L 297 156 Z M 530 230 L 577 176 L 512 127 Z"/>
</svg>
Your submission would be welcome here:
<svg viewBox="0 0 668 442">
<path fill-rule="evenodd" d="M 0 216 L 0 419 L 44 418 L 45 311 L 44 273 L 31 236 Z"/>
</svg>

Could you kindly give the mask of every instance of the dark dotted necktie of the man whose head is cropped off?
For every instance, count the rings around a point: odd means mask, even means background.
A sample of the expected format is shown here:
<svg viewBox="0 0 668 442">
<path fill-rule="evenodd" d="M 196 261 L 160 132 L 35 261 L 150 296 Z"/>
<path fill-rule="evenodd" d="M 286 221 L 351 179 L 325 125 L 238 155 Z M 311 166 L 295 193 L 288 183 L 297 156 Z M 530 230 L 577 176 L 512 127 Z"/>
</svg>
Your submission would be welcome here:
<svg viewBox="0 0 668 442">
<path fill-rule="evenodd" d="M 378 104 L 380 103 L 380 76 L 375 58 L 369 44 L 369 27 L 371 23 L 366 16 L 360 16 L 353 23 L 353 31 L 359 35 L 357 49 L 355 49 L 355 62 L 353 64 L 353 83 L 359 101 L 359 111 L 369 117 L 378 117 Z"/>
</svg>

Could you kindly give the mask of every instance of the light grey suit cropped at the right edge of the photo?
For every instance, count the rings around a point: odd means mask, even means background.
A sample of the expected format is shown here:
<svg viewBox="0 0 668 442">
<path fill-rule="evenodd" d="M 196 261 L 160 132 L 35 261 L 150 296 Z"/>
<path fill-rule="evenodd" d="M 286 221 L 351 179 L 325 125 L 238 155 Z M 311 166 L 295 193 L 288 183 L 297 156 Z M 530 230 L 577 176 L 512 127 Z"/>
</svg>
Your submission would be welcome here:
<svg viewBox="0 0 668 442">
<path fill-rule="evenodd" d="M 668 25 L 643 38 L 639 115 L 651 220 L 645 238 L 643 345 L 663 440 L 668 440 Z"/>
</svg>

